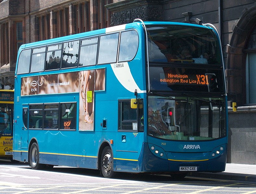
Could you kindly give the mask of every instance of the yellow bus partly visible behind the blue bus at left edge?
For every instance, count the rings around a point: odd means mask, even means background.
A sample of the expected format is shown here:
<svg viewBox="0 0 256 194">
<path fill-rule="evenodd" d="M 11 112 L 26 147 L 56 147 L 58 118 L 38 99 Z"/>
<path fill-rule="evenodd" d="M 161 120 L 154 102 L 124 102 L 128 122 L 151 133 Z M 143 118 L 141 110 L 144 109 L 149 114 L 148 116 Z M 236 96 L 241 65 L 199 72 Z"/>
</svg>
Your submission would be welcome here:
<svg viewBox="0 0 256 194">
<path fill-rule="evenodd" d="M 14 90 L 0 90 L 0 158 L 12 159 Z"/>
</svg>

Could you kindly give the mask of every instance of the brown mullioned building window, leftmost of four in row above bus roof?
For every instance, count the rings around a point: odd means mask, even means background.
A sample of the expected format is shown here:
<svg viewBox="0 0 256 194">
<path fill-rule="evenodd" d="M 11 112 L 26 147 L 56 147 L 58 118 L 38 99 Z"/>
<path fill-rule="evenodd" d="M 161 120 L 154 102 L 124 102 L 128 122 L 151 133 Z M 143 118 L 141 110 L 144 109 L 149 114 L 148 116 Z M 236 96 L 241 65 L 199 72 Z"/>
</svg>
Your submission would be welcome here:
<svg viewBox="0 0 256 194">
<path fill-rule="evenodd" d="M 50 14 L 35 17 L 35 38 L 36 41 L 48 40 L 50 36 Z"/>
</svg>

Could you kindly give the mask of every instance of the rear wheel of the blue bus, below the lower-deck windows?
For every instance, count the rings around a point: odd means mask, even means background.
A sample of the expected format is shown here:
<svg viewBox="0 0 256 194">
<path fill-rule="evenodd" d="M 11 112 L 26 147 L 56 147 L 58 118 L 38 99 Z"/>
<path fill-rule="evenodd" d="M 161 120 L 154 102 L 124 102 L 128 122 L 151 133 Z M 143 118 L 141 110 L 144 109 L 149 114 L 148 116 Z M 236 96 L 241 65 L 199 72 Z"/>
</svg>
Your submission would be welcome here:
<svg viewBox="0 0 256 194">
<path fill-rule="evenodd" d="M 46 165 L 39 164 L 39 149 L 37 143 L 32 143 L 30 147 L 29 163 L 32 169 L 43 169 Z"/>
</svg>

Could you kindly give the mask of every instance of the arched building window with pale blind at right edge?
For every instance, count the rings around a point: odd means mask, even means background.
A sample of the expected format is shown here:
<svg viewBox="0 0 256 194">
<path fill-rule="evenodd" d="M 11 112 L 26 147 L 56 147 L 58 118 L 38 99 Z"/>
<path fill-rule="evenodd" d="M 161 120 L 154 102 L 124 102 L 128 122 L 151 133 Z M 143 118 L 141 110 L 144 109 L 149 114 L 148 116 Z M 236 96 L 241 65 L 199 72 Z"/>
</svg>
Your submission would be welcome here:
<svg viewBox="0 0 256 194">
<path fill-rule="evenodd" d="M 246 57 L 246 103 L 256 103 L 256 28 L 250 34 Z"/>
</svg>

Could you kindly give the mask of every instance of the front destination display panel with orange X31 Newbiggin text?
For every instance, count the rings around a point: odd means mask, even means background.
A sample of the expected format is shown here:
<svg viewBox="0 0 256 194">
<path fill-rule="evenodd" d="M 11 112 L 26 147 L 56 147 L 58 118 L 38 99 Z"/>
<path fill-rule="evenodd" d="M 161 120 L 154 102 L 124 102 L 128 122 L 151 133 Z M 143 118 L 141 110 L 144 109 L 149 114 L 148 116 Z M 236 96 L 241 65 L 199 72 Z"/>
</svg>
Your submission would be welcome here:
<svg viewBox="0 0 256 194">
<path fill-rule="evenodd" d="M 155 91 L 222 92 L 221 70 L 150 67 L 150 89 Z"/>
</svg>

